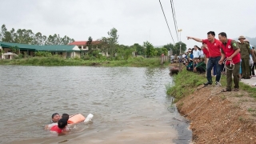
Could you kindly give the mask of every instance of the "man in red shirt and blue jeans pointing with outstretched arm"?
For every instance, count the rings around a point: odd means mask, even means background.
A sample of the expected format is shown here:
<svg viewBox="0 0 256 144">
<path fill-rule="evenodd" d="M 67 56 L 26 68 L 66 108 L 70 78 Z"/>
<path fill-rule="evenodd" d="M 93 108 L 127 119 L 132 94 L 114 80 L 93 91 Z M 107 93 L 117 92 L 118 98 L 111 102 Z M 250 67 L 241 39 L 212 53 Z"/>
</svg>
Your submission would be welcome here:
<svg viewBox="0 0 256 144">
<path fill-rule="evenodd" d="M 200 39 L 200 38 L 193 38 L 193 37 L 187 37 L 187 39 L 194 39 L 194 41 L 206 43 L 209 51 L 209 61 L 207 63 L 206 68 L 206 74 L 207 74 L 207 81 L 205 86 L 211 85 L 213 83 L 212 77 L 211 77 L 211 70 L 213 69 L 213 66 L 216 66 L 216 85 L 220 85 L 219 80 L 221 78 L 221 71 L 222 66 L 218 64 L 218 61 L 221 59 L 221 45 L 222 42 L 219 42 L 217 39 L 214 38 L 215 33 L 214 31 L 209 31 L 207 33 L 207 39 Z"/>
</svg>

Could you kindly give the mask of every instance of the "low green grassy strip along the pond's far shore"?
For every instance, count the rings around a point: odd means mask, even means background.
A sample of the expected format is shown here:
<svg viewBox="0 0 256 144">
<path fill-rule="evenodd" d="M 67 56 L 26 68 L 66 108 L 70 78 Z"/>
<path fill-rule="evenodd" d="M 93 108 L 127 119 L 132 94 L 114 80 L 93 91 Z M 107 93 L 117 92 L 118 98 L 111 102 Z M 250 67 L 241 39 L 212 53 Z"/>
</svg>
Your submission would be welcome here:
<svg viewBox="0 0 256 144">
<path fill-rule="evenodd" d="M 169 62 L 163 65 L 160 58 L 130 58 L 128 60 L 83 60 L 81 58 L 66 59 L 60 57 L 32 57 L 22 59 L 2 59 L 0 65 L 21 65 L 21 66 L 167 66 Z"/>
</svg>

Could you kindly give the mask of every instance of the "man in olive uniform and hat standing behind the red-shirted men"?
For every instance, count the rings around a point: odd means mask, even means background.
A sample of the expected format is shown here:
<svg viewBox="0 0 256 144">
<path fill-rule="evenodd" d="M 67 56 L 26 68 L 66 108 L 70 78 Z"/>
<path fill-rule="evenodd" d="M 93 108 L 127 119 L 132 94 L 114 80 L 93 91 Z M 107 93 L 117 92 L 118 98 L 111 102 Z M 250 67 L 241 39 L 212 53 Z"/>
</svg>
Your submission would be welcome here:
<svg viewBox="0 0 256 144">
<path fill-rule="evenodd" d="M 241 54 L 241 67 L 242 67 L 242 78 L 250 79 L 250 68 L 249 68 L 249 59 L 250 59 L 250 45 L 245 42 L 245 37 L 240 36 L 238 40 L 240 41 L 238 43 L 240 47 L 240 54 Z"/>
</svg>

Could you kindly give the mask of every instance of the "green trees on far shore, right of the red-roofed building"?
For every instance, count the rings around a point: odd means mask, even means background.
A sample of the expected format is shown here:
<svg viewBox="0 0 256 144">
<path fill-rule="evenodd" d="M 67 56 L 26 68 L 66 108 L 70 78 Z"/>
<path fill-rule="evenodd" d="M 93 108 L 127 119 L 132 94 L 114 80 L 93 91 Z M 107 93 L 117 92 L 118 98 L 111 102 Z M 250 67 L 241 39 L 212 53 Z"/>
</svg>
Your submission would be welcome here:
<svg viewBox="0 0 256 144">
<path fill-rule="evenodd" d="M 162 46 L 161 48 L 155 48 L 152 43 L 150 42 L 143 42 L 143 45 L 140 45 L 138 43 L 134 43 L 132 46 L 125 46 L 122 44 L 118 44 L 118 30 L 115 28 L 112 28 L 110 31 L 107 32 L 108 37 L 102 37 L 99 38 L 97 41 L 98 43 L 98 49 L 101 50 L 102 53 L 108 53 L 110 54 L 110 57 L 117 57 L 117 58 L 130 58 L 132 54 L 142 55 L 146 56 L 147 58 L 152 58 L 155 56 L 161 56 L 162 54 L 167 55 L 168 50 L 172 50 L 173 54 L 179 54 L 180 53 L 180 45 L 181 50 L 184 52 L 186 50 L 186 44 L 183 42 L 178 42 L 176 44 L 166 44 Z M 91 37 L 88 38 L 86 45 L 89 47 L 90 56 L 95 56 L 97 53 L 94 52 L 96 50 L 91 42 L 93 39 Z M 115 56 L 115 54 L 117 56 Z"/>
</svg>

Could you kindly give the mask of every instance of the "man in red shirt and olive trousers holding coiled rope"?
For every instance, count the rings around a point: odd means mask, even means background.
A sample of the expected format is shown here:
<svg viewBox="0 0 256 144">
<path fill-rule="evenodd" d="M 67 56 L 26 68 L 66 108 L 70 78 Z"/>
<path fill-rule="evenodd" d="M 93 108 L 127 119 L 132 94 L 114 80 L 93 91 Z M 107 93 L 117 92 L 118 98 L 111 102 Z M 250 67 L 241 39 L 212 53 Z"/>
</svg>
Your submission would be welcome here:
<svg viewBox="0 0 256 144">
<path fill-rule="evenodd" d="M 232 74 L 234 77 L 234 91 L 239 90 L 239 70 L 240 70 L 240 49 L 237 42 L 226 38 L 226 33 L 218 34 L 218 39 L 222 42 L 222 58 L 219 64 L 222 64 L 226 58 L 226 89 L 222 92 L 231 91 Z"/>
</svg>

